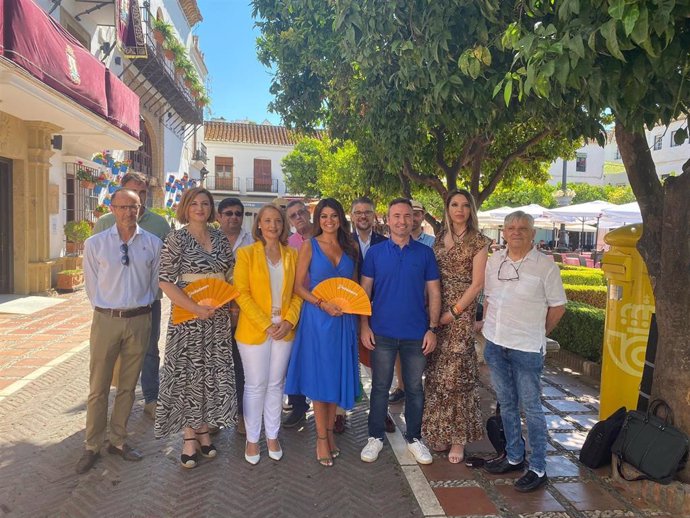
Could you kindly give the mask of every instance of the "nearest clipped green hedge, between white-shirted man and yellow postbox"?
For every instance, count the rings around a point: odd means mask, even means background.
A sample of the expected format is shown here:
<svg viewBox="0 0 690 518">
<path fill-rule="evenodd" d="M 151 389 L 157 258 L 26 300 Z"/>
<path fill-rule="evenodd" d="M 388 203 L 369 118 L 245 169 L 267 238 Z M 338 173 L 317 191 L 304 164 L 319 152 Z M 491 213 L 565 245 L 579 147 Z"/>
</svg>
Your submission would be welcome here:
<svg viewBox="0 0 690 518">
<path fill-rule="evenodd" d="M 593 362 L 601 362 L 604 343 L 604 310 L 568 302 L 565 315 L 551 333 L 563 349 Z"/>
</svg>

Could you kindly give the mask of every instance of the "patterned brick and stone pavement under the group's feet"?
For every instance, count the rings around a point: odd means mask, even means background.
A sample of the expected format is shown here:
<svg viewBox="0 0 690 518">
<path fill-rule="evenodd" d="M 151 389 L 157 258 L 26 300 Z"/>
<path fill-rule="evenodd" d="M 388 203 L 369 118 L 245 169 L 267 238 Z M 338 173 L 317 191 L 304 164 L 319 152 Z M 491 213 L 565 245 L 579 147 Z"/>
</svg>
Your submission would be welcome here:
<svg viewBox="0 0 690 518">
<path fill-rule="evenodd" d="M 268 460 L 264 445 L 261 462 L 250 466 L 242 457 L 242 437 L 228 429 L 214 441 L 219 457 L 187 471 L 178 463 L 181 437 L 154 439 L 139 399 L 130 443 L 146 458 L 125 463 L 103 449 L 91 472 L 76 475 L 91 311 L 83 292 L 63 297 L 65 303 L 33 315 L 0 315 L 0 516 L 670 516 L 626 498 L 613 485 L 610 468 L 592 471 L 579 464 L 579 448 L 597 420 L 598 391 L 555 366 L 545 373 L 543 398 L 550 483 L 532 494 L 513 490 L 517 475 L 451 465 L 443 454 L 418 466 L 399 433 L 389 434 L 391 447 L 378 462 L 361 462 L 366 403 L 350 415 L 339 440 L 343 454 L 333 468 L 316 463 L 308 419 L 302 428 L 282 432 L 281 462 Z M 485 377 L 483 384 L 488 415 L 493 399 Z M 391 410 L 404 427 L 401 407 Z M 486 457 L 493 451 L 486 440 L 467 450 Z"/>
</svg>

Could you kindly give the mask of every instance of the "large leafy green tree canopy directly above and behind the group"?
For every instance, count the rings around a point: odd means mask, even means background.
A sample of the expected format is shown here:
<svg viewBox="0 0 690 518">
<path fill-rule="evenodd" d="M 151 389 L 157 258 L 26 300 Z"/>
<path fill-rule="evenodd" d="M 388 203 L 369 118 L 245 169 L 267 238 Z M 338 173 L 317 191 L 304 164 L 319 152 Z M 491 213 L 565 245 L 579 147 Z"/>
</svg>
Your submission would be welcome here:
<svg viewBox="0 0 690 518">
<path fill-rule="evenodd" d="M 290 126 L 326 125 L 355 141 L 404 193 L 461 185 L 481 203 L 504 178 L 545 180 L 538 164 L 572 154 L 576 136 L 601 136 L 582 108 L 530 99 L 506 109 L 493 97 L 513 62 L 497 45 L 510 3 L 253 5 L 259 57 L 275 71 L 271 108 Z"/>
</svg>

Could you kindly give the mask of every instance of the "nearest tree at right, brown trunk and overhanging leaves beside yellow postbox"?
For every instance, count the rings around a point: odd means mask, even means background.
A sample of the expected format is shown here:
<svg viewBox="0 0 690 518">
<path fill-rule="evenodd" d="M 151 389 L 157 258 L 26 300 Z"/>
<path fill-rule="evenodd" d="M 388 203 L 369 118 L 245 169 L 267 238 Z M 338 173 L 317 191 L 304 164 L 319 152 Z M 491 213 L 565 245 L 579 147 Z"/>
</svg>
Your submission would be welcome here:
<svg viewBox="0 0 690 518">
<path fill-rule="evenodd" d="M 690 431 L 690 161 L 661 182 L 645 126 L 688 115 L 690 3 L 599 0 L 517 3 L 502 38 L 516 56 L 511 98 L 548 99 L 555 107 L 607 111 L 644 222 L 638 249 L 646 263 L 659 331 L 653 395 L 666 399 Z M 508 85 L 511 85 L 510 87 Z M 676 133 L 679 140 L 686 131 Z M 681 475 L 690 480 L 690 466 Z"/>
</svg>

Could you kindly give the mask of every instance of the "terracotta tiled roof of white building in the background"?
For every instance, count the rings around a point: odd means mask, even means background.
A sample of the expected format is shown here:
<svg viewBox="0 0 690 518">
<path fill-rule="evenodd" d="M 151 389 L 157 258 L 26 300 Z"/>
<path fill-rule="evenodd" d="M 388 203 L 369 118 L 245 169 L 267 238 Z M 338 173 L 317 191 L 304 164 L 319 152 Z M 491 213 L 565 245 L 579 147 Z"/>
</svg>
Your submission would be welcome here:
<svg viewBox="0 0 690 518">
<path fill-rule="evenodd" d="M 316 132 L 321 137 L 321 132 Z M 247 122 L 205 121 L 204 140 L 220 142 L 241 142 L 244 144 L 269 144 L 294 146 L 301 135 L 285 126 L 250 124 Z"/>
</svg>

